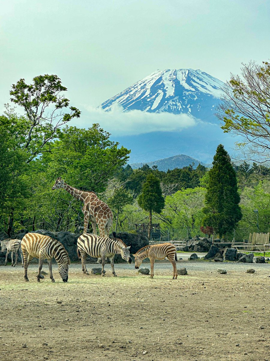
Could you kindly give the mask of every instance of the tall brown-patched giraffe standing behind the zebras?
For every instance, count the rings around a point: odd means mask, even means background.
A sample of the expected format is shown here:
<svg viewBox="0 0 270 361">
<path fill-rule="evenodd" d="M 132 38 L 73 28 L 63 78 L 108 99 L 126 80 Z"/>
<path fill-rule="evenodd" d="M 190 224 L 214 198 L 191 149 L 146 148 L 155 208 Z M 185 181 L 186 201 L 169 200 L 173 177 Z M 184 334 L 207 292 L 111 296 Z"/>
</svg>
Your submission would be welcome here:
<svg viewBox="0 0 270 361">
<path fill-rule="evenodd" d="M 54 183 L 52 190 L 64 188 L 73 197 L 84 203 L 82 212 L 84 213 L 84 232 L 86 234 L 89 225 L 89 219 L 93 227 L 93 233 L 96 233 L 96 225 L 98 225 L 100 237 L 108 237 L 112 226 L 113 214 L 109 206 L 100 200 L 94 192 L 80 191 L 69 186 L 61 177 L 58 177 Z"/>
</svg>

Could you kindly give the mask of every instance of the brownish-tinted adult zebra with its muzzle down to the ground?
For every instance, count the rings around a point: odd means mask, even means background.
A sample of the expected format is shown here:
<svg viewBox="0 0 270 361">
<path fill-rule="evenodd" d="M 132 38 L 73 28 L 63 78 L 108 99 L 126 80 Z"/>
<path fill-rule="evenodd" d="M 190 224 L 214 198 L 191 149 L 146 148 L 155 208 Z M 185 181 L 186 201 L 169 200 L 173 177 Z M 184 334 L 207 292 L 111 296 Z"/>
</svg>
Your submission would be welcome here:
<svg viewBox="0 0 270 361">
<path fill-rule="evenodd" d="M 48 260 L 51 282 L 55 282 L 53 278 L 53 271 L 51 269 L 53 258 L 55 258 L 55 261 L 58 264 L 58 272 L 60 273 L 63 282 L 67 282 L 68 265 L 70 265 L 70 260 L 62 243 L 49 236 L 44 236 L 38 233 L 27 233 L 23 237 L 21 245 L 24 258 L 25 282 L 29 281 L 27 277 L 27 268 L 34 257 L 39 258 L 37 282 L 40 282 L 40 272 L 45 259 Z"/>
</svg>

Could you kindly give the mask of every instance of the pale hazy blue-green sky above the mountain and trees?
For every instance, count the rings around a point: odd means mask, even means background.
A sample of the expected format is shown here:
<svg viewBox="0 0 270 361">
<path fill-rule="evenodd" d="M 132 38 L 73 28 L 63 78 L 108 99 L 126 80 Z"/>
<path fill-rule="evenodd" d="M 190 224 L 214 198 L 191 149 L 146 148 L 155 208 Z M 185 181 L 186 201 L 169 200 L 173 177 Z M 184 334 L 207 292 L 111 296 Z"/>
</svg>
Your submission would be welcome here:
<svg viewBox="0 0 270 361">
<path fill-rule="evenodd" d="M 270 57 L 269 10 L 261 0 L 2 0 L 1 109 L 12 83 L 45 73 L 62 79 L 85 119 L 157 69 L 225 81 L 241 62 Z"/>
</svg>

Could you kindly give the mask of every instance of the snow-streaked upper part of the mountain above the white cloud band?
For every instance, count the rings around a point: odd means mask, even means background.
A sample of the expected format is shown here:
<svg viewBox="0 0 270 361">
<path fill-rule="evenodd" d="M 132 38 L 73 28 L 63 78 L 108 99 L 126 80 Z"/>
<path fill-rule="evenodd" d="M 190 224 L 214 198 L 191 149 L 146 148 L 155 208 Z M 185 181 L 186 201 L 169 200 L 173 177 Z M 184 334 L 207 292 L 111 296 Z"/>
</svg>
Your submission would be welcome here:
<svg viewBox="0 0 270 361">
<path fill-rule="evenodd" d="M 118 103 L 124 111 L 187 113 L 201 120 L 214 120 L 223 85 L 222 81 L 201 70 L 157 70 L 101 106 L 109 110 Z"/>
</svg>

